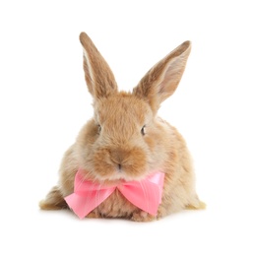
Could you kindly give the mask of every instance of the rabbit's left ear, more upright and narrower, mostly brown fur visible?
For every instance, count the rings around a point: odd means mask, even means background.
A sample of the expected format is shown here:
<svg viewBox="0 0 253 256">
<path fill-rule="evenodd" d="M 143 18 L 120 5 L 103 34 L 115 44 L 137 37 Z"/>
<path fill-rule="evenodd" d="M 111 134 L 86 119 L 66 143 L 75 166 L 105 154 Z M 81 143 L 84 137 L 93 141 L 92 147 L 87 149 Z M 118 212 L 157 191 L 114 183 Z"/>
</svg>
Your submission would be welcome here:
<svg viewBox="0 0 253 256">
<path fill-rule="evenodd" d="M 80 41 L 84 47 L 84 70 L 89 92 L 95 98 L 117 92 L 117 83 L 108 64 L 96 49 L 87 33 L 81 32 Z"/>
</svg>

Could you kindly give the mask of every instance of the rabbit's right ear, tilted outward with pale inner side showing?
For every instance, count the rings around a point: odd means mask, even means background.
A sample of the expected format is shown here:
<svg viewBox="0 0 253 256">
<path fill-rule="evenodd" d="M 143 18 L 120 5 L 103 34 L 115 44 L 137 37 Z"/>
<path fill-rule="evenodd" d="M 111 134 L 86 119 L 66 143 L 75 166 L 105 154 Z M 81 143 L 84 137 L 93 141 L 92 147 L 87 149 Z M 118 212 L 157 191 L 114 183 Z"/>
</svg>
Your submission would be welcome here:
<svg viewBox="0 0 253 256">
<path fill-rule="evenodd" d="M 154 111 L 171 96 L 183 75 L 191 42 L 185 41 L 156 64 L 134 88 L 133 94 L 149 101 Z"/>
</svg>

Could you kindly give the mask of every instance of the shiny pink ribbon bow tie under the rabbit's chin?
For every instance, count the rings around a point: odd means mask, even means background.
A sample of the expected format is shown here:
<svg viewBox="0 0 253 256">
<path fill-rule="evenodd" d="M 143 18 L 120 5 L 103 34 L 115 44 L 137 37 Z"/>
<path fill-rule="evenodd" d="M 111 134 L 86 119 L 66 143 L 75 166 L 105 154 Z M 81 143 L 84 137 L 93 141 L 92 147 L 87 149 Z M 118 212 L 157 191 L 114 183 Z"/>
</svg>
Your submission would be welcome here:
<svg viewBox="0 0 253 256">
<path fill-rule="evenodd" d="M 161 202 L 164 173 L 157 171 L 140 181 L 122 181 L 116 186 L 104 186 L 90 180 L 84 180 L 81 170 L 75 177 L 74 193 L 65 197 L 65 201 L 74 213 L 85 218 L 115 189 L 133 205 L 156 216 Z"/>
</svg>

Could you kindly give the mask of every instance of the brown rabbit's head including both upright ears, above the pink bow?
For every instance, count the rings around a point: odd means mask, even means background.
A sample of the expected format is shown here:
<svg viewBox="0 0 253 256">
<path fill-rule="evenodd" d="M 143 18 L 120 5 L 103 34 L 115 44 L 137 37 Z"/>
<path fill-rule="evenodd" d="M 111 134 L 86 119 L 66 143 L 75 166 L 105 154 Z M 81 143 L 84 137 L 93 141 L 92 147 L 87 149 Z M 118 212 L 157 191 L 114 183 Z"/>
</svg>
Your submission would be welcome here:
<svg viewBox="0 0 253 256">
<path fill-rule="evenodd" d="M 132 93 L 125 93 L 118 92 L 114 76 L 91 38 L 82 32 L 80 40 L 95 109 L 94 118 L 77 140 L 80 167 L 99 181 L 140 179 L 162 168 L 169 151 L 170 128 L 158 121 L 158 107 L 180 82 L 190 41 L 161 59 Z"/>
</svg>

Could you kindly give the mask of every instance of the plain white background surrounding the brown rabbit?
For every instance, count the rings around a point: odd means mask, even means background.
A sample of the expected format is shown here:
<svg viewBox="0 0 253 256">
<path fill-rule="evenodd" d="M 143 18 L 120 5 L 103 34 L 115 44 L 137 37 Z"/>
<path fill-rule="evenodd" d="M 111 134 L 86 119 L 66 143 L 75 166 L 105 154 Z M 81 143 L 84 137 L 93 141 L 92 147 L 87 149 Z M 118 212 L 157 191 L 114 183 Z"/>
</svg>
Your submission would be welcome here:
<svg viewBox="0 0 253 256">
<path fill-rule="evenodd" d="M 253 255 L 252 25 L 245 0 L 1 1 L 0 254 Z M 93 114 L 83 31 L 126 91 L 192 41 L 179 88 L 159 113 L 188 142 L 207 210 L 148 224 L 39 211 Z"/>
</svg>

